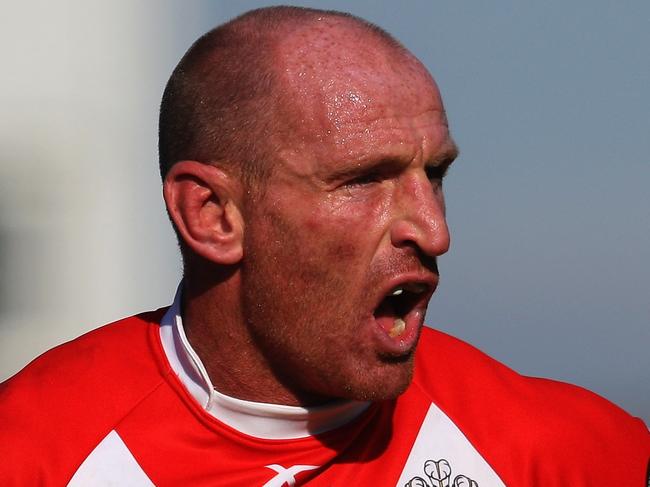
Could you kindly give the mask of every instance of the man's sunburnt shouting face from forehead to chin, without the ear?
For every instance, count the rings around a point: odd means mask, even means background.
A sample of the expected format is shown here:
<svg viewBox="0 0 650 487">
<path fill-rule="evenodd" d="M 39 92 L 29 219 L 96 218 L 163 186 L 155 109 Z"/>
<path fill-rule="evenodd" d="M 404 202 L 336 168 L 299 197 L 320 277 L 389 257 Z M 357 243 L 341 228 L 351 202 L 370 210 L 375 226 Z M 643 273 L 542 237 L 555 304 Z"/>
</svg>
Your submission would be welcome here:
<svg viewBox="0 0 650 487">
<path fill-rule="evenodd" d="M 297 114 L 245 208 L 243 311 L 303 400 L 395 397 L 449 246 L 441 177 L 455 146 L 415 60 L 296 54 L 283 73 Z"/>
</svg>

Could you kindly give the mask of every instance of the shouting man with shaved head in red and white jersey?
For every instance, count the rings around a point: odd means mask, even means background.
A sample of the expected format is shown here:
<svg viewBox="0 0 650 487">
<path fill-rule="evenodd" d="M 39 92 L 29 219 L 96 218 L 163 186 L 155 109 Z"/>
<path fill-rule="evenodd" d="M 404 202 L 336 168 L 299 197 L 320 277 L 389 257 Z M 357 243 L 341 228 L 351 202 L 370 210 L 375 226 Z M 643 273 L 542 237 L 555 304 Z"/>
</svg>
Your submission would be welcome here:
<svg viewBox="0 0 650 487">
<path fill-rule="evenodd" d="M 423 328 L 456 154 L 426 69 L 360 19 L 199 39 L 161 106 L 174 304 L 2 386 L 3 485 L 645 485 L 640 420 Z"/>
</svg>

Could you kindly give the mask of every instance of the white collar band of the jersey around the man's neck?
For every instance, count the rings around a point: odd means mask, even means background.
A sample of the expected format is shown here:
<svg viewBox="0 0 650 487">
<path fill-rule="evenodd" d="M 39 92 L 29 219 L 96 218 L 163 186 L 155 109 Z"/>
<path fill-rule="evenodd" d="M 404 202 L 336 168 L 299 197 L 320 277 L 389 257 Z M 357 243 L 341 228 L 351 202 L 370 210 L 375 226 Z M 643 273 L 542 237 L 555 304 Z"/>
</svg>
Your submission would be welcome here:
<svg viewBox="0 0 650 487">
<path fill-rule="evenodd" d="M 185 336 L 181 318 L 181 285 L 160 322 L 160 339 L 172 370 L 209 414 L 237 431 L 258 438 L 305 438 L 342 426 L 370 403 L 341 401 L 312 408 L 244 401 L 215 390 L 201 359 Z"/>
</svg>

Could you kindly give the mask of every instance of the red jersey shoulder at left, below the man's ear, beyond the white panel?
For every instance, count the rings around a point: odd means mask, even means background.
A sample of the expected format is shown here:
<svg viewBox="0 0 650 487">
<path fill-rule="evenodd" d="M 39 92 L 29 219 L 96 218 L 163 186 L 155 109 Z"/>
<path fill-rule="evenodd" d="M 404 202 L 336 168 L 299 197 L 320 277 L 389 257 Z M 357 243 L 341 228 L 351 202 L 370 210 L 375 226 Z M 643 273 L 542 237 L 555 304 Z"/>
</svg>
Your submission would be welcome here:
<svg viewBox="0 0 650 487">
<path fill-rule="evenodd" d="M 0 384 L 0 477 L 3 466 L 18 472 L 30 458 L 47 458 L 65 470 L 161 383 L 156 337 L 163 312 L 93 330 Z M 39 469 L 47 470 L 42 463 Z"/>
</svg>

